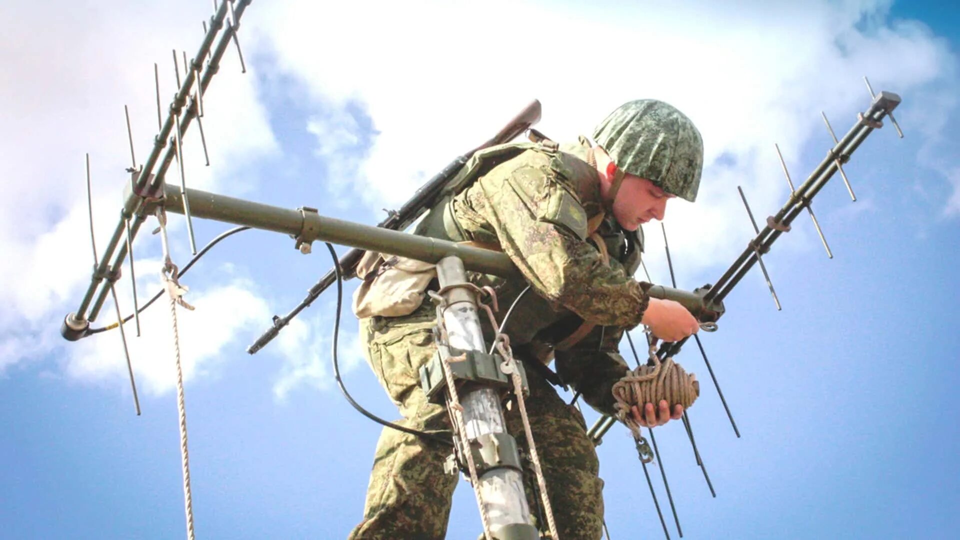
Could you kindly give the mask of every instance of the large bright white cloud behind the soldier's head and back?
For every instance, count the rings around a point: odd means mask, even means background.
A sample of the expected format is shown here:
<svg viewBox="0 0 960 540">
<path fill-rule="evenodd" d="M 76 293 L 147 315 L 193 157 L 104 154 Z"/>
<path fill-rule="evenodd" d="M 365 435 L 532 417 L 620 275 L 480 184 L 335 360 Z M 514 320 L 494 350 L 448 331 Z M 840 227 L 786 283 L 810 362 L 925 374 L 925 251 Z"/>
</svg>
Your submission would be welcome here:
<svg viewBox="0 0 960 540">
<path fill-rule="evenodd" d="M 288 2 L 263 8 L 258 38 L 318 103 L 366 107 L 379 133 L 356 190 L 372 209 L 405 200 L 532 97 L 544 106 L 540 129 L 560 140 L 630 99 L 673 103 L 706 142 L 698 203 L 672 204 L 667 218 L 674 255 L 695 273 L 750 237 L 735 185 L 757 215 L 780 208 L 773 143 L 788 162 L 811 143 L 826 150 L 820 111 L 842 136 L 869 103 L 861 75 L 906 96 L 954 80 L 946 43 L 888 20 L 888 6 Z M 807 171 L 792 172 L 799 184 Z"/>
</svg>

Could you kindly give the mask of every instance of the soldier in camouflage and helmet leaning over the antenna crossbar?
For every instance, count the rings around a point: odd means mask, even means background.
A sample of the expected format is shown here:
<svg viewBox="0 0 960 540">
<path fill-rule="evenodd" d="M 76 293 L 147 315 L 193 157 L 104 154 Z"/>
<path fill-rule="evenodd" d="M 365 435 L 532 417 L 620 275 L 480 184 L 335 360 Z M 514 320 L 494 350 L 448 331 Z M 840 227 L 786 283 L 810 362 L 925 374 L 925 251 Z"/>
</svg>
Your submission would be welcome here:
<svg viewBox="0 0 960 540">
<path fill-rule="evenodd" d="M 503 331 L 528 366 L 527 411 L 565 539 L 601 537 L 603 480 L 583 416 L 547 380 L 571 385 L 589 405 L 613 414 L 612 384 L 629 371 L 617 353 L 624 330 L 644 324 L 667 341 L 698 330 L 684 307 L 649 298 L 650 284 L 633 276 L 642 251 L 639 226 L 662 219 L 671 198 L 696 197 L 703 167 L 699 132 L 670 105 L 638 100 L 614 110 L 593 139 L 564 146 L 549 140 L 508 144 L 477 153 L 453 180 L 468 187 L 431 209 L 416 232 L 508 255 L 524 280 L 469 276 L 492 286 L 501 306 L 531 287 Z M 422 294 L 414 298 L 410 309 L 361 318 L 360 334 L 373 372 L 403 415 L 399 424 L 449 437 L 447 412 L 427 402 L 418 373 L 436 351 L 436 311 L 429 301 L 419 302 Z M 492 329 L 485 330 L 490 342 Z M 545 367 L 551 358 L 556 375 Z M 683 407 L 670 410 L 663 401 L 633 412 L 640 425 L 653 427 L 680 418 Z M 515 434 L 522 433 L 518 416 L 516 407 L 506 413 Z M 521 446 L 523 440 L 517 436 Z M 384 429 L 364 521 L 350 538 L 443 538 L 457 482 L 443 472 L 448 454 L 448 446 Z M 528 500 L 537 507 L 529 490 Z"/>
</svg>

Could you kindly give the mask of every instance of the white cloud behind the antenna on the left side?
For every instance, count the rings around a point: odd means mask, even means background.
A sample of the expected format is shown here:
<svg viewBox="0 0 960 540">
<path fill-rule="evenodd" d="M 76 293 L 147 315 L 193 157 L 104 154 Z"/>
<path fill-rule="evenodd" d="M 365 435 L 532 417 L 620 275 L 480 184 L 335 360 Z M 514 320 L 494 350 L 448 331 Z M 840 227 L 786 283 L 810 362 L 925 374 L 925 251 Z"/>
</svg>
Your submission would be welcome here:
<svg viewBox="0 0 960 540">
<path fill-rule="evenodd" d="M 44 356 L 59 357 L 69 373 L 84 379 L 126 373 L 126 368 L 117 371 L 122 365 L 118 338 L 114 342 L 100 335 L 68 346 L 53 331 L 68 311 L 79 306 L 90 280 L 84 153 L 91 157 L 102 254 L 117 223 L 121 189 L 130 178 L 124 172 L 131 158 L 123 107 L 130 107 L 136 160 L 142 163 L 156 135 L 151 63 L 159 64 L 165 116 L 176 86 L 171 50 L 180 54 L 187 49 L 188 55 L 196 51 L 202 38 L 200 21 L 208 18 L 209 9 L 208 3 L 185 0 L 162 5 L 47 1 L 0 6 L 0 54 L 7 59 L 0 98 L 6 110 L 4 127 L 17 134 L 0 140 L 0 155 L 5 157 L 0 160 L 0 176 L 8 179 L 0 200 L 0 245 L 5 252 L 0 260 L 0 303 L 5 307 L 0 315 L 0 373 Z M 185 25 L 184 20 L 195 24 Z M 190 187 L 249 190 L 253 181 L 245 171 L 250 164 L 277 152 L 255 79 L 239 71 L 231 48 L 206 93 L 204 131 L 211 167 L 204 167 L 196 123 L 184 137 Z M 176 162 L 167 180 L 180 182 Z M 181 227 L 181 220 L 172 221 L 176 238 L 183 237 Z M 137 253 L 156 258 L 158 243 L 149 238 L 148 230 L 145 227 L 136 239 Z M 180 250 L 179 245 L 175 248 Z M 140 262 L 141 274 L 153 274 L 146 270 L 146 259 Z M 127 287 L 126 281 L 120 282 L 118 292 L 129 311 Z M 188 377 L 203 373 L 204 364 L 252 318 L 266 318 L 264 301 L 251 290 L 249 282 L 234 281 L 191 293 L 206 308 L 183 315 L 185 327 L 204 332 L 204 339 L 190 347 L 198 356 L 186 360 Z M 234 312 L 214 304 L 232 306 Z M 108 300 L 101 320 L 112 318 L 110 309 Z M 162 311 L 155 307 L 146 317 Z M 197 340 L 193 332 L 184 331 L 188 341 Z M 170 380 L 168 374 L 155 372 L 156 366 L 166 365 L 152 361 L 155 341 L 132 340 L 134 361 L 143 362 L 144 384 L 162 391 L 170 387 Z"/>
</svg>

